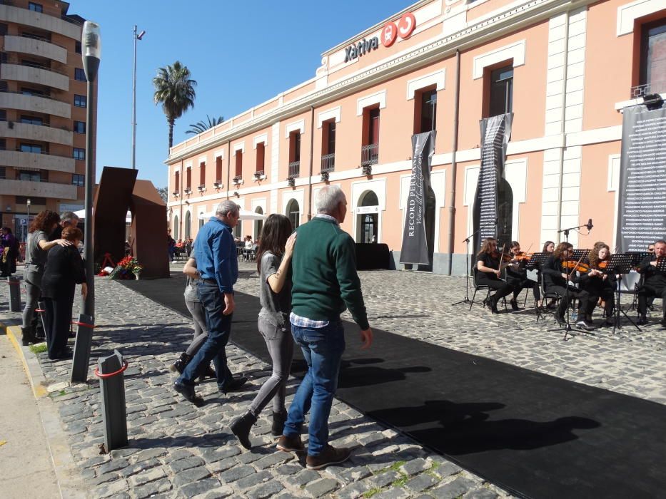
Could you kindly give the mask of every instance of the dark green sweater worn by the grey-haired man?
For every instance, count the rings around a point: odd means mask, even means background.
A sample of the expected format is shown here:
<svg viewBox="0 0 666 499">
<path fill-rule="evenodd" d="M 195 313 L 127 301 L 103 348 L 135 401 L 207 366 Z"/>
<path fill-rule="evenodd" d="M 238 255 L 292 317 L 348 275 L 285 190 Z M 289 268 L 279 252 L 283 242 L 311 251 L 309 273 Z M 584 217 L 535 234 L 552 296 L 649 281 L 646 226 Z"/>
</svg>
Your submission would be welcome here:
<svg viewBox="0 0 666 499">
<path fill-rule="evenodd" d="M 317 217 L 296 232 L 292 312 L 313 320 L 333 320 L 349 309 L 360 329 L 368 329 L 351 236 L 335 222 Z"/>
</svg>

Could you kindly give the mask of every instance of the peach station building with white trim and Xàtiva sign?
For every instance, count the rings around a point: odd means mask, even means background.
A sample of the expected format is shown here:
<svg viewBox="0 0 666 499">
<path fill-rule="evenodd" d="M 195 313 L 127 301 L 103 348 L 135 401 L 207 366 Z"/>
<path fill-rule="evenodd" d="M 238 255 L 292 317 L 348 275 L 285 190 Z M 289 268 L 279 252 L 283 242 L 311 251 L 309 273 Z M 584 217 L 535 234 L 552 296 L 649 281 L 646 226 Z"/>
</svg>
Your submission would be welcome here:
<svg viewBox="0 0 666 499">
<path fill-rule="evenodd" d="M 622 108 L 666 92 L 663 0 L 421 0 L 322 54 L 315 76 L 171 148 L 168 215 L 196 237 L 230 198 L 296 227 L 340 185 L 356 242 L 402 244 L 414 133 L 435 130 L 433 271 L 465 272 L 480 120 L 513 113 L 498 232 L 613 247 Z M 239 235 L 256 237 L 258 222 Z M 398 268 L 400 266 L 398 265 Z"/>
</svg>

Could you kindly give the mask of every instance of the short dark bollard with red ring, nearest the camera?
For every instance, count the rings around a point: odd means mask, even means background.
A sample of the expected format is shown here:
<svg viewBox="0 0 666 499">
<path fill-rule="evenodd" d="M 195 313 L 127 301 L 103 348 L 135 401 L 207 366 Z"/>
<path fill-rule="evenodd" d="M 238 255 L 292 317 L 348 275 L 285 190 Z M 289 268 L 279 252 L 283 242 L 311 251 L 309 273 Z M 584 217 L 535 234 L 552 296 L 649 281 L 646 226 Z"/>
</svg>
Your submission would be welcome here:
<svg viewBox="0 0 666 499">
<path fill-rule="evenodd" d="M 125 369 L 127 361 L 123 361 L 118 350 L 113 350 L 113 355 L 99 359 L 95 368 L 95 376 L 99 378 L 107 452 L 127 446 Z"/>
</svg>

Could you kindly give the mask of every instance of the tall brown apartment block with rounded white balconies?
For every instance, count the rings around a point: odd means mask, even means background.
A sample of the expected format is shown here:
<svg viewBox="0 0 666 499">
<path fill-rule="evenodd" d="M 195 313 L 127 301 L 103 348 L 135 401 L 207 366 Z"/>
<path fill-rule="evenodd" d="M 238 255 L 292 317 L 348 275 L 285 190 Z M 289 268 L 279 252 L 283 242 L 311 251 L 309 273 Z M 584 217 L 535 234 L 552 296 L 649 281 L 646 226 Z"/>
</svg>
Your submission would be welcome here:
<svg viewBox="0 0 666 499">
<path fill-rule="evenodd" d="M 65 1 L 0 1 L 0 212 L 21 241 L 41 210 L 84 207 L 96 113 L 86 123 L 84 19 L 68 11 Z"/>
</svg>

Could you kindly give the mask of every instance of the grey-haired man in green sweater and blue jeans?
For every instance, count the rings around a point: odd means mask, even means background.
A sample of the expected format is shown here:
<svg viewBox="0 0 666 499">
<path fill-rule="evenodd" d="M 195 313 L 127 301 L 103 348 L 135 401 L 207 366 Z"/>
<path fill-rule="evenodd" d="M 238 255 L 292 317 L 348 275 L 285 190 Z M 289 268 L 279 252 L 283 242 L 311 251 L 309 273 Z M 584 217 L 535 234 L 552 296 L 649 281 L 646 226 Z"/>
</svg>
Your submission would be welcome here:
<svg viewBox="0 0 666 499">
<path fill-rule="evenodd" d="M 308 362 L 308 373 L 293 398 L 278 449 L 303 452 L 301 428 L 308 408 L 308 469 L 346 461 L 351 451 L 328 445 L 328 415 L 338 387 L 345 331 L 340 314 L 349 309 L 360 326 L 361 348 L 373 342 L 356 273 L 355 245 L 340 229 L 347 200 L 340 187 L 326 186 L 316 197 L 317 215 L 298 227 L 291 260 L 291 332 Z"/>
</svg>

